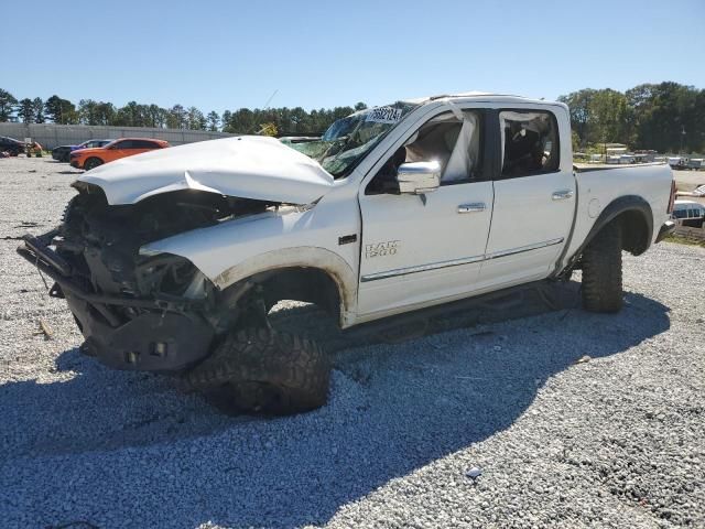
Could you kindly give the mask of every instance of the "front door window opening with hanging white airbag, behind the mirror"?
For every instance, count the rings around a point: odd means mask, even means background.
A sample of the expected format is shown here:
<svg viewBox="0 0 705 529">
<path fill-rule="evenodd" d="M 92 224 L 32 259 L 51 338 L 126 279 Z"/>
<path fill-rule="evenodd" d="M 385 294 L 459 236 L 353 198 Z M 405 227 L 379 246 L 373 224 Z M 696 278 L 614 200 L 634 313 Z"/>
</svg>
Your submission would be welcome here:
<svg viewBox="0 0 705 529">
<path fill-rule="evenodd" d="M 469 182 L 479 177 L 480 119 L 465 111 L 463 119 L 445 112 L 424 123 L 384 162 L 370 181 L 368 195 L 399 193 L 397 172 L 402 163 L 441 163 L 441 185 Z"/>
</svg>

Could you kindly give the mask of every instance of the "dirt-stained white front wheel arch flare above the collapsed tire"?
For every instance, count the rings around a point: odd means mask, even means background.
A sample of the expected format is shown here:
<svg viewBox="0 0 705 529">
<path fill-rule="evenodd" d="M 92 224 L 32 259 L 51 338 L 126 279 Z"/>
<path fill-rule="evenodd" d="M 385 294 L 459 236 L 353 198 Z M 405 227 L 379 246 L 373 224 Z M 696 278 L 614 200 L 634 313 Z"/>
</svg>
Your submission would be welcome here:
<svg viewBox="0 0 705 529">
<path fill-rule="evenodd" d="M 340 299 L 340 327 L 355 323 L 357 312 L 357 276 L 337 253 L 319 247 L 293 247 L 252 256 L 213 278 L 220 290 L 258 273 L 285 268 L 313 268 L 326 273 L 336 284 Z"/>
</svg>

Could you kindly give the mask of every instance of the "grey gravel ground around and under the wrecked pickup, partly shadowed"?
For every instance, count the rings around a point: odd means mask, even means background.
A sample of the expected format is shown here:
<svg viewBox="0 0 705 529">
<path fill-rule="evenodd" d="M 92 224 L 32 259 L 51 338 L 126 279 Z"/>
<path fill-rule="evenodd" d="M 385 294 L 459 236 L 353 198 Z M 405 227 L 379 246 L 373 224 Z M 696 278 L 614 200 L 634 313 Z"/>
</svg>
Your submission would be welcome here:
<svg viewBox="0 0 705 529">
<path fill-rule="evenodd" d="M 14 253 L 76 174 L 0 160 L 2 527 L 705 527 L 704 249 L 626 257 L 618 315 L 352 345 L 325 408 L 226 417 L 82 357 Z"/>
</svg>

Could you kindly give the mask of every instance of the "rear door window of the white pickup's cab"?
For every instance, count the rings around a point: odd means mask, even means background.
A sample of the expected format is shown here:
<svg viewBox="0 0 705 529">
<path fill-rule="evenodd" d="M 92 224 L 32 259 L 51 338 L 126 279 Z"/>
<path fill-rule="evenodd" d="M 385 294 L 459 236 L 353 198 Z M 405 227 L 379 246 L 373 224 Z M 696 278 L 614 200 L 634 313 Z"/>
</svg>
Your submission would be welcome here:
<svg viewBox="0 0 705 529">
<path fill-rule="evenodd" d="M 502 110 L 499 125 L 503 179 L 558 170 L 558 127 L 552 112 Z"/>
</svg>

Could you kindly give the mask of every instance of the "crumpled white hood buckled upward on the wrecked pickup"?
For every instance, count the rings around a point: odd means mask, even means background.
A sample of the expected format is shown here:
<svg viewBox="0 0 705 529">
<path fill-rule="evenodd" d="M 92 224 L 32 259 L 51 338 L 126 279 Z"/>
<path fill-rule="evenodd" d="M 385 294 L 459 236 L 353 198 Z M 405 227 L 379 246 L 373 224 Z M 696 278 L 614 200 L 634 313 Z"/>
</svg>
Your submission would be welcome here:
<svg viewBox="0 0 705 529">
<path fill-rule="evenodd" d="M 318 162 L 261 136 L 159 149 L 99 165 L 78 181 L 100 186 L 112 205 L 178 190 L 310 204 L 333 187 Z"/>
</svg>

